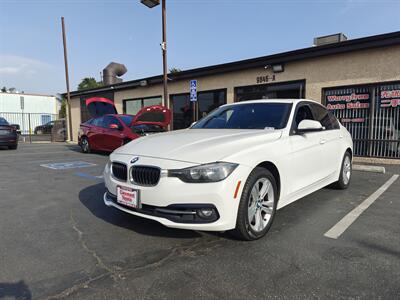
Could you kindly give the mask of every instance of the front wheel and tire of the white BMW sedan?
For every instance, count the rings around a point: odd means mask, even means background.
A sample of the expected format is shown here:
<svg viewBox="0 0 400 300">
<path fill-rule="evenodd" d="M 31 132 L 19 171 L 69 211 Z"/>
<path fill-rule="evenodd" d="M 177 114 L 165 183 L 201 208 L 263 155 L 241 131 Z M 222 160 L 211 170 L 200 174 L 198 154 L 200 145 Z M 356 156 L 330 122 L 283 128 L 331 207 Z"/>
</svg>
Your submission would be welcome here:
<svg viewBox="0 0 400 300">
<path fill-rule="evenodd" d="M 270 171 L 255 168 L 243 188 L 232 232 L 237 238 L 251 241 L 263 237 L 270 229 L 278 203 L 276 180 Z"/>
</svg>

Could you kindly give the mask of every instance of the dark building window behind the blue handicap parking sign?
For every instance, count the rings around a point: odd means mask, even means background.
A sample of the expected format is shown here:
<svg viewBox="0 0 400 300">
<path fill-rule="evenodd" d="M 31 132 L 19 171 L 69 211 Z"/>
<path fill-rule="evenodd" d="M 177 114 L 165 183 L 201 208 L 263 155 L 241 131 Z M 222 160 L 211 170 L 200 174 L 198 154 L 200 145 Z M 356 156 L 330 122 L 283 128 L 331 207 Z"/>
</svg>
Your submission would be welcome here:
<svg viewBox="0 0 400 300">
<path fill-rule="evenodd" d="M 193 103 L 190 102 L 189 93 L 171 95 L 170 103 L 173 112 L 173 129 L 188 128 L 194 121 L 226 104 L 226 89 L 198 92 L 195 114 L 193 114 Z"/>
</svg>

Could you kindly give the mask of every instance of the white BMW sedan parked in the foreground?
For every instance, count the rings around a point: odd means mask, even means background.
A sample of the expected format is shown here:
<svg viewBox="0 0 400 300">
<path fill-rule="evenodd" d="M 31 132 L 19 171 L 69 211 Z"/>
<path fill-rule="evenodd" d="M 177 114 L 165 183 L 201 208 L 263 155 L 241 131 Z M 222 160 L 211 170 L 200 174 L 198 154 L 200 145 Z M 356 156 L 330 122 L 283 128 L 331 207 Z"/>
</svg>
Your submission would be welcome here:
<svg viewBox="0 0 400 300">
<path fill-rule="evenodd" d="M 165 226 L 264 236 L 276 210 L 350 183 L 353 143 L 322 105 L 256 100 L 219 107 L 188 129 L 115 150 L 104 203 Z"/>
</svg>

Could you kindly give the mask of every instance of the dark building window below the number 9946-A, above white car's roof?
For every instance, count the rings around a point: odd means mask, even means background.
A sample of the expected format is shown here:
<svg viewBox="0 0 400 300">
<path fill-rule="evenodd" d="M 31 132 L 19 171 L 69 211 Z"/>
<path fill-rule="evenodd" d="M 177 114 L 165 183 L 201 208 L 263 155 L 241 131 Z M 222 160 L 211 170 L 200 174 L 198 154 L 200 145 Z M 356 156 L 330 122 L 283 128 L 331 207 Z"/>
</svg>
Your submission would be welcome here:
<svg viewBox="0 0 400 300">
<path fill-rule="evenodd" d="M 305 81 L 258 84 L 235 88 L 235 102 L 259 99 L 304 98 Z"/>
</svg>

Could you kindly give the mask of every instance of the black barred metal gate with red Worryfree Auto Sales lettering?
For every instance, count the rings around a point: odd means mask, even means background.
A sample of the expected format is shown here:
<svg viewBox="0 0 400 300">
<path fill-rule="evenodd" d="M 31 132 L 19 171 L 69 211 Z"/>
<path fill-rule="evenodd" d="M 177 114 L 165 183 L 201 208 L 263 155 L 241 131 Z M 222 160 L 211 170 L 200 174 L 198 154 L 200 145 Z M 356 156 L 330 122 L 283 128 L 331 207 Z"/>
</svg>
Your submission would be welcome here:
<svg viewBox="0 0 400 300">
<path fill-rule="evenodd" d="M 354 155 L 400 158 L 400 83 L 324 89 L 324 100 L 350 132 Z"/>
</svg>

